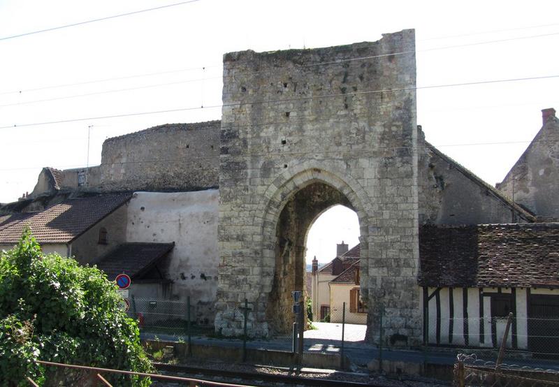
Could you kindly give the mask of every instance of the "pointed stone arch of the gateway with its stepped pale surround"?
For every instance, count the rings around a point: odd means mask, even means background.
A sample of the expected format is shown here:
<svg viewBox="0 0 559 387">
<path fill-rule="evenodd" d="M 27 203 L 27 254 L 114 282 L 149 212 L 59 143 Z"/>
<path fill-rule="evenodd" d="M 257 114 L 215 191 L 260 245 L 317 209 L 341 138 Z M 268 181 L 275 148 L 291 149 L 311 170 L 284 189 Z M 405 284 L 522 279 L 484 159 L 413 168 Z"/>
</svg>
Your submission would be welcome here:
<svg viewBox="0 0 559 387">
<path fill-rule="evenodd" d="M 286 330 L 289 328 L 289 317 L 286 317 L 284 325 L 277 323 L 277 320 L 271 319 L 271 316 L 284 316 L 289 309 L 289 293 L 291 290 L 302 290 L 304 281 L 304 254 L 305 254 L 305 238 L 307 231 L 312 222 L 319 215 L 332 205 L 342 204 L 354 210 L 359 219 L 361 230 L 361 265 L 366 277 L 366 268 L 368 262 L 368 212 L 365 210 L 366 196 L 362 196 L 365 191 L 356 180 L 349 176 L 340 177 L 340 171 L 333 171 L 330 168 L 324 168 L 324 163 L 305 163 L 305 165 L 293 168 L 289 173 L 284 173 L 270 184 L 266 194 L 264 194 L 259 209 L 256 211 L 260 214 L 255 217 L 254 226 L 261 229 L 263 236 L 263 244 L 260 260 L 260 271 L 262 273 L 262 282 L 260 287 L 259 300 L 266 305 L 268 321 L 273 323 L 275 330 Z M 305 211 L 304 216 L 297 222 L 289 224 L 289 230 L 286 228 L 286 211 L 289 205 L 297 207 L 297 205 L 305 207 L 310 196 L 322 195 L 322 198 L 313 200 L 313 208 Z M 283 215 L 283 216 L 282 216 Z M 293 218 L 293 216 L 291 216 Z M 293 222 L 293 219 L 291 219 Z M 294 230 L 293 230 L 294 228 Z M 284 238 L 284 234 L 295 232 L 296 235 Z M 299 234 L 302 233 L 302 234 Z M 284 242 L 282 242 L 284 240 Z M 289 246 L 289 243 L 294 245 Z M 289 248 L 285 258 L 286 249 Z M 291 249 L 293 248 L 293 251 Z M 283 263 L 283 265 L 282 265 Z M 280 273 L 278 270 L 289 266 L 289 275 L 287 272 Z M 300 266 L 300 267 L 298 267 Z M 293 267 L 294 270 L 293 270 Z M 363 281 L 366 283 L 366 281 Z M 282 293 L 280 295 L 279 293 Z"/>
</svg>

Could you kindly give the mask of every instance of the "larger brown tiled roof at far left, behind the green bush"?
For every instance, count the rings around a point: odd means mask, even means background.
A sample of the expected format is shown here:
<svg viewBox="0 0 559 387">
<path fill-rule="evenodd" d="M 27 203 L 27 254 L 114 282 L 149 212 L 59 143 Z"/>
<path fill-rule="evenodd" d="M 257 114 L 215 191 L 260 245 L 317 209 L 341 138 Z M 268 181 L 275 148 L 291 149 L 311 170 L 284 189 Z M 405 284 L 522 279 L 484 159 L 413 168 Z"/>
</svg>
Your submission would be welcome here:
<svg viewBox="0 0 559 387">
<path fill-rule="evenodd" d="M 68 243 L 123 205 L 131 194 L 106 194 L 66 199 L 0 229 L 0 244 L 17 243 L 26 226 L 37 242 Z"/>
</svg>

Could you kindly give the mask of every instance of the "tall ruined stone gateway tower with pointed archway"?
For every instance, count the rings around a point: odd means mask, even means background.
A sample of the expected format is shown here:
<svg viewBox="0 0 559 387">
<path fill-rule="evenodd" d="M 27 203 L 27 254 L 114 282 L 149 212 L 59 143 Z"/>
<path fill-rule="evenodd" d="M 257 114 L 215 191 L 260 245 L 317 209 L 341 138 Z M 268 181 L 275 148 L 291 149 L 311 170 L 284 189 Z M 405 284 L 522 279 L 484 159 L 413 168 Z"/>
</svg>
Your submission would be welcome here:
<svg viewBox="0 0 559 387">
<path fill-rule="evenodd" d="M 337 204 L 361 229 L 368 339 L 422 335 L 414 31 L 375 43 L 224 56 L 215 326 L 290 329 L 313 221 Z"/>
</svg>

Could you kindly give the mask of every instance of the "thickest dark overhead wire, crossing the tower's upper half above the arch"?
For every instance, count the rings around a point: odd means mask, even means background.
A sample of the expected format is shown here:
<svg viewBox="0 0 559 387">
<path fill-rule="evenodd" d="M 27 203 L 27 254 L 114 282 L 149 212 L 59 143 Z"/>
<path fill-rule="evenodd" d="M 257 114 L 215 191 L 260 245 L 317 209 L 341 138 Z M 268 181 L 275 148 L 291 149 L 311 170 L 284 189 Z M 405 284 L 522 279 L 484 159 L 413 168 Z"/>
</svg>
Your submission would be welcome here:
<svg viewBox="0 0 559 387">
<path fill-rule="evenodd" d="M 419 90 L 419 89 L 436 89 L 436 88 L 460 87 L 460 86 L 470 86 L 470 85 L 488 85 L 488 84 L 492 84 L 492 83 L 518 82 L 518 81 L 525 81 L 525 80 L 541 80 L 541 79 L 549 79 L 549 78 L 559 78 L 559 75 L 544 75 L 544 76 L 539 76 L 539 77 L 511 78 L 511 79 L 504 79 L 504 80 L 483 80 L 483 81 L 476 81 L 476 82 L 452 83 L 452 84 L 446 84 L 446 85 L 402 87 L 402 88 L 398 88 L 398 89 L 379 89 L 379 90 L 369 90 L 369 91 L 365 91 L 365 92 L 325 94 L 325 95 L 321 95 L 321 96 L 302 96 L 302 97 L 293 97 L 293 98 L 278 98 L 278 99 L 268 99 L 268 100 L 258 100 L 258 101 L 222 103 L 222 104 L 219 104 L 219 105 L 209 105 L 209 106 L 199 106 L 199 107 L 198 106 L 196 106 L 196 107 L 193 106 L 193 107 L 189 107 L 189 108 L 176 108 L 176 109 L 167 109 L 167 110 L 152 110 L 152 111 L 148 111 L 148 112 L 133 112 L 133 113 L 118 114 L 118 115 L 83 117 L 83 118 L 73 118 L 73 119 L 59 119 L 59 120 L 56 120 L 56 121 L 34 122 L 34 123 L 31 123 L 31 124 L 13 124 L 13 125 L 7 125 L 7 126 L 0 126 L 0 129 L 10 129 L 10 128 L 24 127 L 24 126 L 39 126 L 39 125 L 48 125 L 48 124 L 64 124 L 64 123 L 67 123 L 67 122 L 80 122 L 80 121 L 86 121 L 86 120 L 92 120 L 92 119 L 108 119 L 108 118 L 119 118 L 119 117 L 131 117 L 131 116 L 152 115 L 152 114 L 168 113 L 168 112 L 182 112 L 182 111 L 187 111 L 187 110 L 226 108 L 226 107 L 235 107 L 235 106 L 241 106 L 241 105 L 251 105 L 251 104 L 261 104 L 261 103 L 310 101 L 310 100 L 319 99 L 319 98 L 361 96 L 361 95 L 367 95 L 367 94 L 379 94 L 379 93 L 389 93 L 389 92 L 406 92 L 406 91 Z"/>
</svg>

